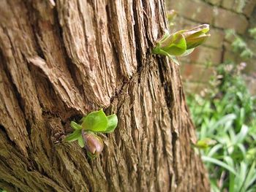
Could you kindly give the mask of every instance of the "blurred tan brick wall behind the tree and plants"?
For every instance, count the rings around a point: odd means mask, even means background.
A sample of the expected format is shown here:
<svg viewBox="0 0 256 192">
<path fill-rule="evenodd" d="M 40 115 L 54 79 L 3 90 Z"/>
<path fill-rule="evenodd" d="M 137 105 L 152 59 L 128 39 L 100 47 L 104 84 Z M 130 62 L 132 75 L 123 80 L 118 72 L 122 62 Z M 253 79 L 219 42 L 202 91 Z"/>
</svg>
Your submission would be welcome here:
<svg viewBox="0 0 256 192">
<path fill-rule="evenodd" d="M 189 56 L 181 58 L 181 76 L 188 92 L 199 93 L 207 87 L 215 67 L 227 59 L 241 61 L 233 53 L 233 39 L 225 38 L 226 29 L 234 29 L 246 40 L 256 55 L 256 43 L 249 38 L 248 28 L 256 27 L 256 0 L 166 0 L 167 10 L 175 9 L 178 17 L 171 31 L 192 28 L 202 23 L 211 25 L 211 37 Z M 246 62 L 244 76 L 250 91 L 256 95 L 255 57 Z"/>
</svg>

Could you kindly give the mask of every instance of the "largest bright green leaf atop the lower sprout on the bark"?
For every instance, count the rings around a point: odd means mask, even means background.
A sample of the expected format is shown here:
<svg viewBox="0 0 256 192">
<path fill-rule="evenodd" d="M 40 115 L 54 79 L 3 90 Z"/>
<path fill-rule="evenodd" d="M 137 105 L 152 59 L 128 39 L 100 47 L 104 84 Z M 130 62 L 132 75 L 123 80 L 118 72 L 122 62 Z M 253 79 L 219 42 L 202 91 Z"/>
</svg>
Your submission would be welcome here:
<svg viewBox="0 0 256 192">
<path fill-rule="evenodd" d="M 91 112 L 84 118 L 82 127 L 86 131 L 102 132 L 106 131 L 108 126 L 108 118 L 103 110 Z"/>
</svg>

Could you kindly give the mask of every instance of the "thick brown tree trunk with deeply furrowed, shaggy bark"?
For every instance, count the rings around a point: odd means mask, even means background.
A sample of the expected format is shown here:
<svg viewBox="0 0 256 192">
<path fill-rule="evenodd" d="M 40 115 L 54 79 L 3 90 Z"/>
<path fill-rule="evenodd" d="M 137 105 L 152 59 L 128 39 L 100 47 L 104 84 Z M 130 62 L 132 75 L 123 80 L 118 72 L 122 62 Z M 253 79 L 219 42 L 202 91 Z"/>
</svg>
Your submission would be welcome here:
<svg viewBox="0 0 256 192">
<path fill-rule="evenodd" d="M 151 48 L 162 0 L 1 0 L 0 188 L 209 191 L 178 66 Z M 71 120 L 118 115 L 99 158 Z"/>
</svg>

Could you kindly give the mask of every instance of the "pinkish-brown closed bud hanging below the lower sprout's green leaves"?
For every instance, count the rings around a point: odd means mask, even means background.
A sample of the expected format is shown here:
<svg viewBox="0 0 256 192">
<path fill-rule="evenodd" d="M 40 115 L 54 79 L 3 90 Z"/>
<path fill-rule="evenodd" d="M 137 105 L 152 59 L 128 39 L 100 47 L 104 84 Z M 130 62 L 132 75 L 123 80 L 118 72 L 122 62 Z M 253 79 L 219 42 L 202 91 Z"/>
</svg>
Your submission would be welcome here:
<svg viewBox="0 0 256 192">
<path fill-rule="evenodd" d="M 82 131 L 84 146 L 89 156 L 96 157 L 102 153 L 104 144 L 102 139 L 96 134 L 89 131 Z"/>
</svg>

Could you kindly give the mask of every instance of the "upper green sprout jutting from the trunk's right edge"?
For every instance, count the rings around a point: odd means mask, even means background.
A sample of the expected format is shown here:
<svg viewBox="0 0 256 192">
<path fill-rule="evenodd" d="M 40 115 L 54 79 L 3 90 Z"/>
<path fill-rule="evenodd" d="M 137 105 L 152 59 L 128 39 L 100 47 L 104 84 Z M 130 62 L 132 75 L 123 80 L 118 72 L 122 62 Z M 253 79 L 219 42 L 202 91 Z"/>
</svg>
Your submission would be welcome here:
<svg viewBox="0 0 256 192">
<path fill-rule="evenodd" d="M 201 45 L 210 34 L 209 25 L 203 24 L 190 30 L 181 30 L 173 34 L 165 31 L 165 35 L 157 41 L 153 54 L 165 55 L 178 64 L 177 56 L 186 56 L 193 52 L 195 47 Z"/>
</svg>

